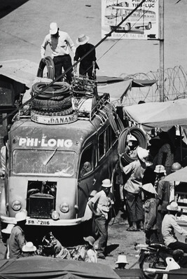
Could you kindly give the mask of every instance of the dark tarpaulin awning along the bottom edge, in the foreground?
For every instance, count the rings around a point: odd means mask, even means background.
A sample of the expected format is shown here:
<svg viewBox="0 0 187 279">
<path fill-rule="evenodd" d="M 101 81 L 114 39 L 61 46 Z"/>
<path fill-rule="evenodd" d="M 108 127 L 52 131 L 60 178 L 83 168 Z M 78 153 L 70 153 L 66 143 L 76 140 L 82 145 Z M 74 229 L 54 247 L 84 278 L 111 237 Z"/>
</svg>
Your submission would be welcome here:
<svg viewBox="0 0 187 279">
<path fill-rule="evenodd" d="M 110 266 L 51 257 L 24 257 L 0 261 L 0 278 L 119 279 Z"/>
</svg>

